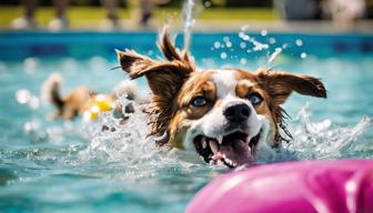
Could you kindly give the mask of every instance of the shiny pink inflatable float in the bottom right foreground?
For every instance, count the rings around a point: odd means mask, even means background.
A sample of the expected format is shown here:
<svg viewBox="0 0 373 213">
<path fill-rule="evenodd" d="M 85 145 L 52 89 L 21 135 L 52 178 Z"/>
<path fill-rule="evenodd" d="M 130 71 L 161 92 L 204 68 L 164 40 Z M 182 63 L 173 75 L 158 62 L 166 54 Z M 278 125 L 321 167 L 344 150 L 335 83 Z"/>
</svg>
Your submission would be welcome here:
<svg viewBox="0 0 373 213">
<path fill-rule="evenodd" d="M 305 161 L 232 172 L 213 180 L 186 213 L 373 213 L 373 161 Z"/>
</svg>

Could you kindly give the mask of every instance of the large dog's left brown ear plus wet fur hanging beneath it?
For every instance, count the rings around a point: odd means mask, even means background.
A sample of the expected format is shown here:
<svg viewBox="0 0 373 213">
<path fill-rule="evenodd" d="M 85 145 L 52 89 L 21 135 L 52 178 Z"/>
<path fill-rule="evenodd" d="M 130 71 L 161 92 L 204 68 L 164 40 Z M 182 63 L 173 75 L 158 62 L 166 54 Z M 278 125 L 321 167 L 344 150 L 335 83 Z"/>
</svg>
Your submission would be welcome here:
<svg viewBox="0 0 373 213">
<path fill-rule="evenodd" d="M 157 114 L 155 120 L 151 121 L 151 134 L 161 136 L 167 133 L 172 114 L 177 110 L 179 91 L 195 69 L 188 51 L 180 52 L 171 42 L 167 28 L 161 36 L 159 48 L 165 58 L 164 61 L 154 61 L 130 50 L 117 51 L 117 54 L 121 68 L 131 79 L 143 75 L 147 78 L 152 91 L 152 108 L 149 113 Z"/>
</svg>

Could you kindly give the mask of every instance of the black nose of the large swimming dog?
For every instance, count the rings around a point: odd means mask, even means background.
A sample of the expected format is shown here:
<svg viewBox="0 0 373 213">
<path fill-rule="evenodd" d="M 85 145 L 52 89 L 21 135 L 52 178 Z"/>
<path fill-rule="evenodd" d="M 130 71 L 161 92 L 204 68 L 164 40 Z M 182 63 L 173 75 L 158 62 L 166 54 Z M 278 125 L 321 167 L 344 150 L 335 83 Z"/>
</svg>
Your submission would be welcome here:
<svg viewBox="0 0 373 213">
<path fill-rule="evenodd" d="M 241 123 L 249 119 L 251 109 L 245 103 L 239 103 L 226 108 L 223 114 L 230 122 Z"/>
</svg>

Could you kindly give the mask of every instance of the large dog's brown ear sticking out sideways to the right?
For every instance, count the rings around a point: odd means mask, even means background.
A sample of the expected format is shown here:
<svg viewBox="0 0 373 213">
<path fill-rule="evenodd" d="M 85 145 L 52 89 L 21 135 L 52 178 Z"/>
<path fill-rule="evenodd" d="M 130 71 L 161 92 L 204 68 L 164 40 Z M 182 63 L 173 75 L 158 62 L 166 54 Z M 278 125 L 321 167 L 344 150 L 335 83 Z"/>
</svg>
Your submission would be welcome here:
<svg viewBox="0 0 373 213">
<path fill-rule="evenodd" d="M 324 84 L 320 79 L 310 75 L 266 70 L 258 71 L 256 75 L 275 104 L 284 103 L 293 91 L 303 95 L 326 98 Z"/>
</svg>

